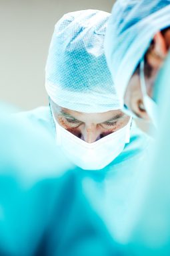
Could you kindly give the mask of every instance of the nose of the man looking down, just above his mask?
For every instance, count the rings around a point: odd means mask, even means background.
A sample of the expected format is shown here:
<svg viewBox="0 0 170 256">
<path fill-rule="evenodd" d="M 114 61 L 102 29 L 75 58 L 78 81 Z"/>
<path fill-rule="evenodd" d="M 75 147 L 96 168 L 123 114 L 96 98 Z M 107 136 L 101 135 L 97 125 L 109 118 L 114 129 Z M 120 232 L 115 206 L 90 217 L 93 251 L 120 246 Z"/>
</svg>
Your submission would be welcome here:
<svg viewBox="0 0 170 256">
<path fill-rule="evenodd" d="M 87 143 L 93 143 L 102 137 L 101 131 L 98 131 L 95 125 L 85 127 L 85 129 L 81 131 L 81 139 Z"/>
</svg>

